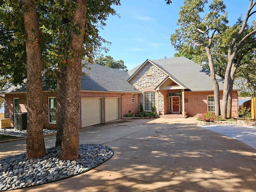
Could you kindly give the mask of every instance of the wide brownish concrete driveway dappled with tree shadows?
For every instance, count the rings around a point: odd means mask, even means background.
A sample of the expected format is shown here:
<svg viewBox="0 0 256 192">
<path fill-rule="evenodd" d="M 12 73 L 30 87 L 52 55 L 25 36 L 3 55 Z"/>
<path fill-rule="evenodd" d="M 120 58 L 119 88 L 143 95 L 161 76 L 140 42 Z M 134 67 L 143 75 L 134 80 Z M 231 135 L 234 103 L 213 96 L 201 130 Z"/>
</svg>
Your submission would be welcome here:
<svg viewBox="0 0 256 192">
<path fill-rule="evenodd" d="M 195 121 L 120 120 L 84 128 L 80 143 L 110 146 L 110 160 L 79 176 L 14 191 L 255 192 L 256 150 Z M 53 146 L 55 136 L 45 141 Z M 0 144 L 1 159 L 24 152 L 26 140 L 6 144 Z"/>
</svg>

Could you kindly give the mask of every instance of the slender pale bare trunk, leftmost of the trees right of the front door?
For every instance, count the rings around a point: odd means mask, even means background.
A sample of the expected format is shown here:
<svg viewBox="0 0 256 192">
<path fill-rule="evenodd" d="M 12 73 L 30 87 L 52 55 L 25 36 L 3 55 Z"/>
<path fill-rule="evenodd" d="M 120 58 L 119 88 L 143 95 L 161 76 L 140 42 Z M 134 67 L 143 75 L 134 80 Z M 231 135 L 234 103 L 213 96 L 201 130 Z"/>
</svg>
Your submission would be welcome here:
<svg viewBox="0 0 256 192">
<path fill-rule="evenodd" d="M 208 61 L 209 61 L 209 67 L 210 67 L 210 78 L 212 80 L 212 84 L 214 87 L 214 108 L 215 108 L 215 114 L 216 115 L 220 115 L 220 89 L 219 89 L 219 84 L 216 80 L 215 77 L 215 70 L 214 70 L 214 64 L 212 62 L 212 54 L 210 52 L 210 48 L 208 47 L 204 47 L 204 49 L 206 50 L 206 54 L 208 57 Z"/>
</svg>

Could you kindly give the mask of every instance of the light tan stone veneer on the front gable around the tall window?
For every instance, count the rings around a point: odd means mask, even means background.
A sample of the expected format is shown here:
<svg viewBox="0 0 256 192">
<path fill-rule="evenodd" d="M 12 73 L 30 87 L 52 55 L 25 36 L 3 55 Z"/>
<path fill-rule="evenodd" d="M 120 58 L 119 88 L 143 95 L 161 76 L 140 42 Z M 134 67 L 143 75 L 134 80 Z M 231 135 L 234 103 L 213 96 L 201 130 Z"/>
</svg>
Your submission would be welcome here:
<svg viewBox="0 0 256 192">
<path fill-rule="evenodd" d="M 149 67 L 151 68 L 151 75 L 146 74 L 146 70 Z M 129 82 L 140 92 L 155 91 L 154 88 L 156 88 L 156 86 L 158 86 L 166 77 L 166 74 L 148 62 Z M 161 100 L 161 102 L 158 104 L 159 110 L 164 108 L 162 94 L 163 92 L 158 95 L 159 99 Z M 143 94 L 140 94 L 138 99 L 139 104 L 140 102 L 143 103 Z"/>
</svg>

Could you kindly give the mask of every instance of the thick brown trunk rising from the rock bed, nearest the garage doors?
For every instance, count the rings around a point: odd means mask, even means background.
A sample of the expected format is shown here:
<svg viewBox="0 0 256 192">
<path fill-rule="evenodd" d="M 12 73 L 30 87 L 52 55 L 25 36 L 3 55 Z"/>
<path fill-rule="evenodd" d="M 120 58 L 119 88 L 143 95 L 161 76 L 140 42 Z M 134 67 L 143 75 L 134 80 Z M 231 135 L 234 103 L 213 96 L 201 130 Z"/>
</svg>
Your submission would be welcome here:
<svg viewBox="0 0 256 192">
<path fill-rule="evenodd" d="M 76 0 L 77 9 L 73 13 L 72 22 L 80 29 L 79 34 L 71 35 L 69 50 L 73 58 L 67 60 L 65 119 L 62 136 L 60 159 L 77 159 L 79 150 L 80 128 L 80 92 L 82 76 L 82 52 L 84 42 L 84 29 L 86 22 L 87 0 Z"/>
</svg>

